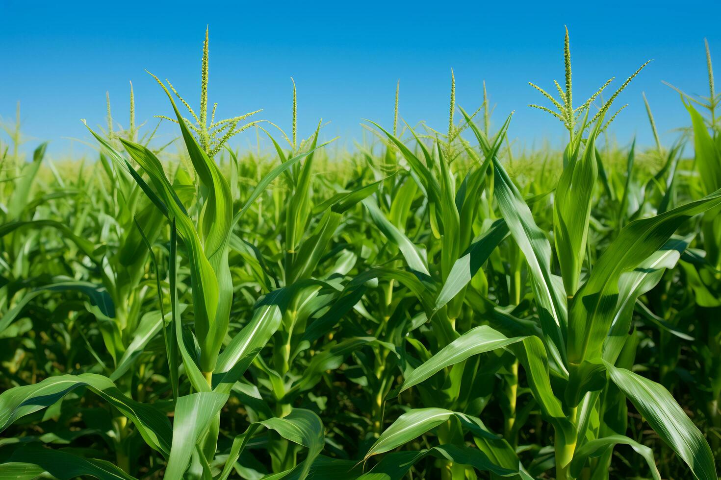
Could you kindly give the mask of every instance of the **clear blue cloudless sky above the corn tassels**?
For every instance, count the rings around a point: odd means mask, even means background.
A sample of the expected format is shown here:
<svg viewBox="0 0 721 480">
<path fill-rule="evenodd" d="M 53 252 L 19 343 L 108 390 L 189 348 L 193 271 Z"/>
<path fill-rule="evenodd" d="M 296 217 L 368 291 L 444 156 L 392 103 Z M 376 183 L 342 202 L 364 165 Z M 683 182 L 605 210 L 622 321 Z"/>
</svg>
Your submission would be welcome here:
<svg viewBox="0 0 721 480">
<path fill-rule="evenodd" d="M 19 100 L 25 134 L 52 140 L 53 155 L 67 153 L 71 142 L 63 137 L 88 138 L 80 118 L 105 124 L 105 91 L 118 122 L 127 124 L 128 81 L 138 122 L 169 114 L 146 68 L 169 78 L 197 107 L 206 24 L 209 94 L 219 103 L 218 117 L 262 108 L 260 117 L 289 127 L 293 76 L 299 134 L 309 135 L 322 117 L 331 122 L 324 135 L 342 135 L 348 146 L 361 138 L 362 118 L 392 124 L 397 79 L 401 117 L 445 128 L 451 68 L 459 105 L 479 106 L 485 79 L 496 124 L 516 111 L 510 133 L 518 145 L 558 142 L 562 125 L 526 107 L 543 104 L 527 82 L 553 89 L 554 79 L 562 81 L 564 24 L 575 99 L 611 76 L 620 84 L 654 60 L 619 97 L 619 107 L 630 104 L 613 129 L 621 142 L 633 135 L 652 142 L 642 91 L 665 142 L 673 140 L 673 128 L 688 123 L 678 94 L 661 81 L 707 94 L 704 37 L 721 65 L 721 2 L 485 3 L 0 0 L 0 117 L 12 119 Z M 164 129 L 163 136 L 172 131 Z"/>
</svg>

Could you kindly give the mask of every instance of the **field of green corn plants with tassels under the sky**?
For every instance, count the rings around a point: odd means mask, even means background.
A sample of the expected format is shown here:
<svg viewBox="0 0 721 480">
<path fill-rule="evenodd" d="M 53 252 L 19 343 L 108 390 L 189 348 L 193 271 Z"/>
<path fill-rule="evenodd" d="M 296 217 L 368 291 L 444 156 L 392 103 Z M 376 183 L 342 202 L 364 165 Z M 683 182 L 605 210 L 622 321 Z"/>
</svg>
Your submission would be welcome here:
<svg viewBox="0 0 721 480">
<path fill-rule="evenodd" d="M 512 115 L 452 76 L 447 129 L 405 124 L 399 83 L 351 152 L 297 131 L 295 83 L 290 135 L 218 120 L 207 32 L 199 105 L 146 76 L 174 149 L 132 91 L 86 160 L 25 158 L 6 123 L 0 478 L 717 479 L 706 48 L 678 134 L 628 99 L 647 149 L 607 135 L 646 64 L 579 101 L 568 32 L 564 81 L 528 87 L 559 151 L 513 155 Z M 231 148 L 245 130 L 273 151 Z"/>
</svg>

